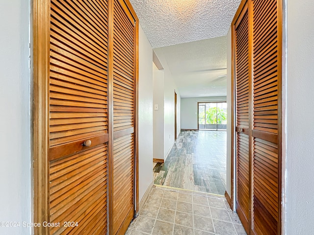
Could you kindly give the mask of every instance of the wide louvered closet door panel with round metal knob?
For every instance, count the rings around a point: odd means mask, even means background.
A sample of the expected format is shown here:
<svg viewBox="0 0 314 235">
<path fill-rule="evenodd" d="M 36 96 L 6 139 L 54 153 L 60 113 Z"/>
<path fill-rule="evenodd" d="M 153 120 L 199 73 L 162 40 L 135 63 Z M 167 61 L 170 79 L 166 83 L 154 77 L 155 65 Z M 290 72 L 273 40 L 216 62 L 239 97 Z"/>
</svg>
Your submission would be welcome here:
<svg viewBox="0 0 314 235">
<path fill-rule="evenodd" d="M 107 8 L 51 0 L 50 234 L 107 232 Z"/>
</svg>

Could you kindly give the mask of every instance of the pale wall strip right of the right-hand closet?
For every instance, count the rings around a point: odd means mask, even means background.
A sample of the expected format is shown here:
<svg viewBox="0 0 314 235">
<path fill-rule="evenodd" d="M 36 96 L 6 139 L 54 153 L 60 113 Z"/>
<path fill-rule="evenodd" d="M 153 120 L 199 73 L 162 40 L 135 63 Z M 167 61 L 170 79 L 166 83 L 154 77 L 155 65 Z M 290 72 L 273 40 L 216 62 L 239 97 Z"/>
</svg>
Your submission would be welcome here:
<svg viewBox="0 0 314 235">
<path fill-rule="evenodd" d="M 287 0 L 287 9 L 286 234 L 311 235 L 314 231 L 314 1 Z"/>
</svg>

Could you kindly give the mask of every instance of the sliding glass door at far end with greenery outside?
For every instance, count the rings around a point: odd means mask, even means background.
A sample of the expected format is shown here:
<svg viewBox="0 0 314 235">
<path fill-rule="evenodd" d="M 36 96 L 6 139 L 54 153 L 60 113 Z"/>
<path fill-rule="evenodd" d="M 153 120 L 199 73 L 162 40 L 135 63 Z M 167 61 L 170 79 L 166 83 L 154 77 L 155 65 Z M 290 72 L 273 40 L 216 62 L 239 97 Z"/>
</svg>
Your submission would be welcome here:
<svg viewBox="0 0 314 235">
<path fill-rule="evenodd" d="M 227 102 L 202 102 L 197 105 L 199 130 L 227 130 Z"/>
</svg>

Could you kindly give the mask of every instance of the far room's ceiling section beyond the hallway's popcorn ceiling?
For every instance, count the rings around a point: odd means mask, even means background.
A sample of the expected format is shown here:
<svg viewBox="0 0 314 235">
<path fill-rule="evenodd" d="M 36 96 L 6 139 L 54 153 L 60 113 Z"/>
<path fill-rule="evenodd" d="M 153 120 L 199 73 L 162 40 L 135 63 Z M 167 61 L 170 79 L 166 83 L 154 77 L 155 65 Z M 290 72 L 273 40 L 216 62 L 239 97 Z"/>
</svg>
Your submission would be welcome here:
<svg viewBox="0 0 314 235">
<path fill-rule="evenodd" d="M 227 94 L 227 36 L 154 49 L 167 64 L 181 97 Z"/>
</svg>

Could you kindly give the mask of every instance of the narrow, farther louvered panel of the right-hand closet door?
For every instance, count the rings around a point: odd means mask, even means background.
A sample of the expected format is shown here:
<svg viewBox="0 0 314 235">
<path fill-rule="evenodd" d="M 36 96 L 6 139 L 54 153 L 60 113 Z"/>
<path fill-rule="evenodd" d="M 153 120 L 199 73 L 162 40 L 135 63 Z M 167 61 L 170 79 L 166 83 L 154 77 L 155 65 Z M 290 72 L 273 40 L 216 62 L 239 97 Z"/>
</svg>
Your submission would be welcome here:
<svg viewBox="0 0 314 235">
<path fill-rule="evenodd" d="M 250 219 L 250 89 L 247 5 L 235 24 L 236 210 L 246 231 Z"/>
</svg>

